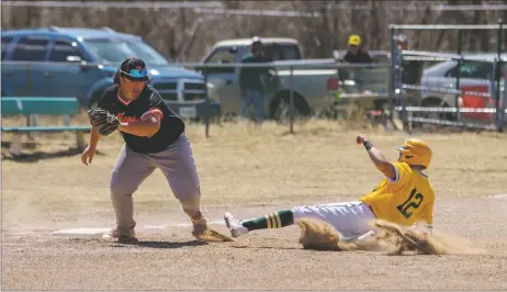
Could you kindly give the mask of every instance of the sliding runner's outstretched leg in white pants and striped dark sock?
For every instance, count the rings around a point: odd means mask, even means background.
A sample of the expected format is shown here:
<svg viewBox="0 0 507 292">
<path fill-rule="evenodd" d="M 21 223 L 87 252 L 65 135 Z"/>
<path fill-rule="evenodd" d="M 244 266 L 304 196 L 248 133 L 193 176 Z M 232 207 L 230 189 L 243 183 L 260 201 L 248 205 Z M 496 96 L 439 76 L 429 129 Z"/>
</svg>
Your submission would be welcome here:
<svg viewBox="0 0 507 292">
<path fill-rule="evenodd" d="M 342 236 L 356 237 L 370 231 L 368 221 L 373 220 L 375 216 L 370 207 L 361 202 L 295 206 L 291 210 L 273 212 L 248 221 L 238 220 L 229 212 L 224 215 L 225 223 L 233 237 L 238 237 L 256 229 L 282 228 L 294 224 L 303 217 L 325 221 L 331 224 Z"/>
</svg>

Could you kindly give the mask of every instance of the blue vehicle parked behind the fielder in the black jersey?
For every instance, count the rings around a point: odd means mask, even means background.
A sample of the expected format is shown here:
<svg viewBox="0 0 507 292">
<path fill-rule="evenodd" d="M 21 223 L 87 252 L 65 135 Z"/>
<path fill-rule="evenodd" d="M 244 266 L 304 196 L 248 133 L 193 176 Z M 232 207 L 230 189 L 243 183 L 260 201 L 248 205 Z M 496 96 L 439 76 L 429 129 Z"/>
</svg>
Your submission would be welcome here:
<svg viewBox="0 0 507 292">
<path fill-rule="evenodd" d="M 1 40 L 2 97 L 76 97 L 84 109 L 94 108 L 121 61 L 135 56 L 147 63 L 151 86 L 182 117 L 219 113 L 218 102 L 206 106 L 201 74 L 171 66 L 139 36 L 109 27 L 50 26 L 2 31 Z"/>
</svg>

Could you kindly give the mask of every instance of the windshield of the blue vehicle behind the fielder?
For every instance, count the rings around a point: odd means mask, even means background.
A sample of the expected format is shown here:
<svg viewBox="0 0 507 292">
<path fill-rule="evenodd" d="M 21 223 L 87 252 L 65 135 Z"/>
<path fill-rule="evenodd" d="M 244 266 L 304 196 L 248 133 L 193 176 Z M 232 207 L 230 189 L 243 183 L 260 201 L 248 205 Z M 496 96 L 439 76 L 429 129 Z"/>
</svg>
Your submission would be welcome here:
<svg viewBox="0 0 507 292">
<path fill-rule="evenodd" d="M 100 63 L 120 64 L 128 57 L 142 58 L 148 66 L 167 65 L 168 61 L 157 50 L 144 42 L 97 38 L 83 42 Z"/>
</svg>

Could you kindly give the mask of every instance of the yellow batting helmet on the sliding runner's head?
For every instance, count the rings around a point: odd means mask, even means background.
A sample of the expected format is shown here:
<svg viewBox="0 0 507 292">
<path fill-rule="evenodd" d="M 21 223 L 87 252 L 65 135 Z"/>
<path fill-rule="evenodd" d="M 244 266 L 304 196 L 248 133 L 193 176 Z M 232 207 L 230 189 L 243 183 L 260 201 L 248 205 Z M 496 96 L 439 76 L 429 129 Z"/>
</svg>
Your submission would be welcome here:
<svg viewBox="0 0 507 292">
<path fill-rule="evenodd" d="M 401 162 L 407 162 L 412 166 L 422 166 L 424 169 L 429 167 L 432 153 L 426 142 L 417 138 L 407 139 L 402 147 L 396 147 L 396 149 L 399 150 Z"/>
</svg>

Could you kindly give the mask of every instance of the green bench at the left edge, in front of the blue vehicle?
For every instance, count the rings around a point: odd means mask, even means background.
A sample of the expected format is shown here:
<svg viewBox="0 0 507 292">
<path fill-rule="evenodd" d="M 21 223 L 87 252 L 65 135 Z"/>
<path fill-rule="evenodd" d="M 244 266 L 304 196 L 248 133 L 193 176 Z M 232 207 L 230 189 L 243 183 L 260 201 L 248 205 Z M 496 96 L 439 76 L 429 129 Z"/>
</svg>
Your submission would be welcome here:
<svg viewBox="0 0 507 292">
<path fill-rule="evenodd" d="M 10 151 L 13 155 L 21 154 L 21 135 L 30 133 L 76 132 L 78 149 L 84 149 L 84 133 L 91 132 L 91 125 L 70 125 L 70 115 L 79 114 L 81 108 L 76 98 L 2 97 L 1 102 L 2 116 L 27 115 L 35 124 L 29 124 L 26 126 L 3 126 L 2 123 L 2 133 L 15 134 L 10 147 Z M 38 114 L 65 115 L 65 125 L 41 126 L 37 121 Z"/>
</svg>

